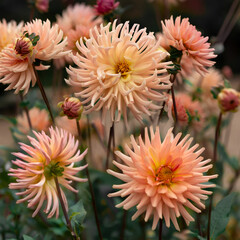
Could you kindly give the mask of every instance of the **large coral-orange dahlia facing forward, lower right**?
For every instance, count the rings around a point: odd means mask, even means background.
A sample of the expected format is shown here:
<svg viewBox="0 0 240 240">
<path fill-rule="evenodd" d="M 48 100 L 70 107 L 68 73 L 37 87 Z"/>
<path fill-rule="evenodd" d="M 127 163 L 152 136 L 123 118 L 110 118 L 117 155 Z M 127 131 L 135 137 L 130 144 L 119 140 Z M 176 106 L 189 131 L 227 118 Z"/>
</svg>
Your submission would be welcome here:
<svg viewBox="0 0 240 240">
<path fill-rule="evenodd" d="M 170 129 L 161 141 L 159 128 L 154 133 L 151 127 L 150 132 L 151 140 L 146 128 L 145 143 L 139 136 L 139 145 L 131 136 L 133 150 L 125 145 L 125 152 L 129 156 L 115 152 L 123 164 L 113 163 L 122 173 L 112 170 L 108 170 L 108 173 L 125 183 L 113 185 L 113 188 L 120 190 L 108 196 L 126 197 L 116 207 L 128 210 L 136 206 L 132 220 L 146 212 L 145 221 L 153 215 L 153 230 L 160 218 L 165 219 L 167 227 L 172 221 L 179 230 L 177 217 L 182 216 L 187 225 L 194 221 L 187 209 L 199 213 L 199 208 L 205 208 L 201 200 L 206 200 L 207 195 L 212 193 L 205 188 L 215 187 L 215 184 L 204 183 L 217 175 L 205 175 L 212 168 L 212 164 L 208 164 L 211 160 L 203 160 L 200 156 L 204 148 L 195 151 L 198 144 L 190 147 L 193 138 L 189 139 L 189 135 L 179 141 L 182 134 L 178 133 L 174 138 Z"/>
</svg>

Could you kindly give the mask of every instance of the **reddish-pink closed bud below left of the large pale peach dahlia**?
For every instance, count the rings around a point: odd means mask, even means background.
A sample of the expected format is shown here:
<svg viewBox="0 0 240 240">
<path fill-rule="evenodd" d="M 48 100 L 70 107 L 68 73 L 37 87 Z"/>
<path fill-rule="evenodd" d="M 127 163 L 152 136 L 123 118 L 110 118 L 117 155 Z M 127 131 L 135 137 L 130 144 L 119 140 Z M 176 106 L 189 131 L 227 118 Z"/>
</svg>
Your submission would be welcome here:
<svg viewBox="0 0 240 240">
<path fill-rule="evenodd" d="M 83 111 L 82 103 L 78 98 L 66 97 L 63 102 L 58 103 L 62 108 L 60 115 L 67 116 L 69 119 L 80 119 Z"/>
</svg>

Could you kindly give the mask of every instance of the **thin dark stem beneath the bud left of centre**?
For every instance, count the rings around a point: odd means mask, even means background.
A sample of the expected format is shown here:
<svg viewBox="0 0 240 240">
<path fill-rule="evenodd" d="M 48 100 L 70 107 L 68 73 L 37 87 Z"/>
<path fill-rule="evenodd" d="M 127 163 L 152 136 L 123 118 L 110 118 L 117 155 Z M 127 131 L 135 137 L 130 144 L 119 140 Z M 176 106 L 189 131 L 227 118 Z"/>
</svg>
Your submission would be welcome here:
<svg viewBox="0 0 240 240">
<path fill-rule="evenodd" d="M 79 121 L 76 119 L 76 124 L 77 124 L 77 130 L 78 130 L 78 138 L 79 141 L 81 142 L 81 130 L 80 130 L 80 124 Z M 85 160 L 87 163 L 87 160 Z M 97 229 L 98 229 L 98 235 L 99 238 L 102 240 L 102 233 L 101 233 L 101 228 L 100 228 L 100 223 L 99 223 L 99 219 L 98 219 L 98 214 L 97 214 L 97 206 L 96 206 L 96 200 L 95 200 L 95 195 L 94 195 L 94 191 L 93 191 L 93 187 L 92 187 L 92 182 L 91 182 L 91 178 L 90 178 L 90 174 L 88 171 L 88 167 L 86 167 L 86 175 L 88 178 L 88 185 L 89 185 L 89 190 L 90 190 L 90 194 L 92 197 L 92 206 L 93 206 L 93 212 L 94 212 L 94 216 L 95 216 L 95 221 L 96 221 L 96 225 L 97 225 Z"/>
</svg>

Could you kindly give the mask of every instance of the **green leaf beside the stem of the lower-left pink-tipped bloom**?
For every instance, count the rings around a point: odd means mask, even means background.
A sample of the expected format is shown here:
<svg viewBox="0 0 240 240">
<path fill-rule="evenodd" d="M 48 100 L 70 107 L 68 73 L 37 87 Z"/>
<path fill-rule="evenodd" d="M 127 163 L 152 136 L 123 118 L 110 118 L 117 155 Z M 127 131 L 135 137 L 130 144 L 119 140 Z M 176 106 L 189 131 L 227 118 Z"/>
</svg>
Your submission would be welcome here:
<svg viewBox="0 0 240 240">
<path fill-rule="evenodd" d="M 73 227 L 73 231 L 77 236 L 80 235 L 80 232 L 83 229 L 82 224 L 86 217 L 86 214 L 87 212 L 84 209 L 82 200 L 69 208 L 70 221 Z"/>
</svg>

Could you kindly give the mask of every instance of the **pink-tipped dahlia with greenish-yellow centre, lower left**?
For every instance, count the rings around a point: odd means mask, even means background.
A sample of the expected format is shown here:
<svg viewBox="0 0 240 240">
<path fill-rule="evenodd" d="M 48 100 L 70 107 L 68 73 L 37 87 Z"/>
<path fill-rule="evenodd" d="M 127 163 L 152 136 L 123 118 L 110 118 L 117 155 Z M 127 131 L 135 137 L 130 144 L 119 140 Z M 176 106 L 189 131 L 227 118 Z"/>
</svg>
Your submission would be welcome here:
<svg viewBox="0 0 240 240">
<path fill-rule="evenodd" d="M 13 161 L 18 168 L 11 168 L 9 173 L 10 176 L 17 178 L 16 183 L 10 183 L 10 189 L 26 189 L 16 193 L 20 196 L 26 195 L 17 200 L 17 203 L 27 201 L 29 208 L 36 206 L 33 217 L 39 212 L 45 200 L 44 211 L 48 213 L 48 218 L 55 213 L 58 217 L 59 200 L 54 176 L 57 176 L 60 186 L 73 192 L 77 190 L 70 185 L 72 181 L 87 181 L 87 179 L 74 176 L 87 167 L 87 165 L 74 167 L 75 162 L 84 158 L 87 150 L 80 154 L 78 141 L 75 141 L 74 136 L 64 130 L 51 127 L 49 131 L 50 136 L 43 131 L 33 132 L 36 139 L 28 136 L 32 146 L 20 143 L 21 149 L 26 153 L 13 153 L 18 158 Z M 61 187 L 60 191 L 65 207 L 68 209 L 67 199 Z"/>
</svg>

